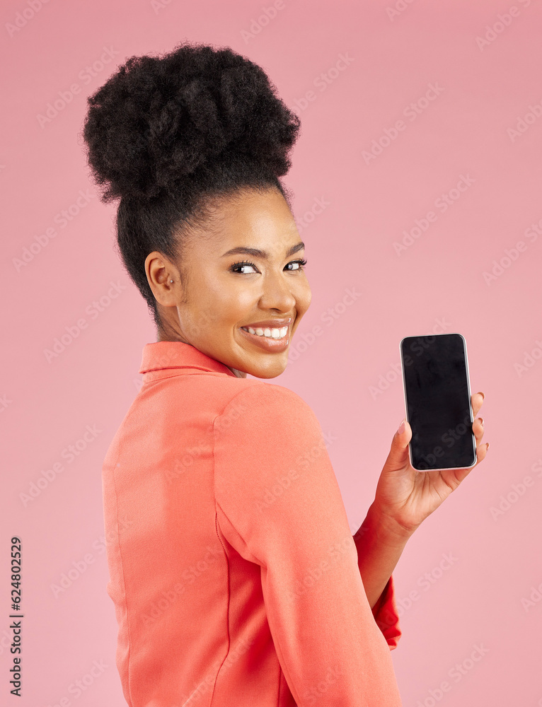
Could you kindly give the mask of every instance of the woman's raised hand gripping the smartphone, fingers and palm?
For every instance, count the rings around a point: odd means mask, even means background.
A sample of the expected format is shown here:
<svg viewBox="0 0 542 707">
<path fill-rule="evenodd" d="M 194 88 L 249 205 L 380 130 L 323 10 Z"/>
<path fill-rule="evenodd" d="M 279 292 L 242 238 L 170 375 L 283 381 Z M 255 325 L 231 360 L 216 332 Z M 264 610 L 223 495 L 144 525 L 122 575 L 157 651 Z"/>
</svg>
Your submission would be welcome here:
<svg viewBox="0 0 542 707">
<path fill-rule="evenodd" d="M 376 486 L 374 509 L 389 530 L 399 536 L 409 537 L 422 520 L 438 508 L 461 481 L 485 459 L 489 444 L 480 444 L 483 434 L 483 419 L 476 418 L 482 407 L 483 393 L 471 396 L 473 406 L 473 433 L 476 438 L 476 464 L 470 469 L 432 469 L 417 472 L 410 464 L 408 443 L 412 428 L 405 420 L 405 428 L 397 431 L 391 442 L 391 450 Z"/>
</svg>

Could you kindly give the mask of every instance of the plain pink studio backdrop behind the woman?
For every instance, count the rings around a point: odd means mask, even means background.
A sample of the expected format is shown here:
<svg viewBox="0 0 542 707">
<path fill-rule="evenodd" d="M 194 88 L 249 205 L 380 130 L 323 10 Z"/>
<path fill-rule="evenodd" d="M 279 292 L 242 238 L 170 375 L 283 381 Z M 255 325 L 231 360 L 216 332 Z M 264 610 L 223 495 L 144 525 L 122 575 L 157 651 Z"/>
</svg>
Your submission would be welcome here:
<svg viewBox="0 0 542 707">
<path fill-rule="evenodd" d="M 23 541 L 18 705 L 124 704 L 105 591 L 100 474 L 140 385 L 142 348 L 155 337 L 113 250 L 115 205 L 102 204 L 88 180 L 80 132 L 86 96 L 118 64 L 190 39 L 246 54 L 301 116 L 286 182 L 313 300 L 289 366 L 272 382 L 304 397 L 335 437 L 329 454 L 352 532 L 404 415 L 400 339 L 463 334 L 472 391 L 486 395 L 487 460 L 417 530 L 394 573 L 403 637 L 393 662 L 403 703 L 542 705 L 542 587 L 533 593 L 542 583 L 542 238 L 531 228 L 542 233 L 542 8 L 523 0 L 510 14 L 514 6 L 502 1 L 399 0 L 403 10 L 391 16 L 394 6 L 284 0 L 265 16 L 271 1 L 50 0 L 32 16 L 30 2 L 2 3 L 2 704 L 11 704 L 12 535 Z M 491 34 L 498 13 L 507 24 Z M 10 29 L 17 18 L 23 26 Z M 430 84 L 438 95 L 426 100 Z M 308 91 L 314 100 L 304 104 Z M 55 101 L 60 110 L 44 122 Z M 393 134 L 401 119 L 404 129 Z M 364 153 L 386 129 L 393 139 L 367 163 Z M 459 191 L 462 176 L 470 185 Z M 94 196 L 74 206 L 87 190 Z M 442 194 L 446 211 L 435 203 Z M 64 223 L 58 214 L 70 207 Z M 437 214 L 430 223 L 421 221 L 427 211 Z M 416 219 L 427 228 L 398 255 L 393 244 Z M 48 243 L 47 229 L 56 234 Z M 37 239 L 45 245 L 18 262 Z M 524 250 L 486 282 L 484 272 L 519 241 Z M 345 300 L 349 291 L 355 297 Z M 98 312 L 92 303 L 100 298 Z M 47 361 L 67 327 L 78 335 Z M 531 351 L 518 372 L 514 364 Z M 92 440 L 67 460 L 63 450 L 87 426 L 95 427 Z M 63 471 L 23 503 L 21 494 L 58 462 Z M 525 477 L 529 486 L 521 486 Z M 494 518 L 499 503 L 506 510 Z M 444 556 L 452 558 L 445 570 Z M 70 571 L 74 580 L 55 596 L 52 587 Z M 475 645 L 484 648 L 478 661 L 470 658 Z M 439 693 L 443 681 L 451 689 Z"/>
</svg>

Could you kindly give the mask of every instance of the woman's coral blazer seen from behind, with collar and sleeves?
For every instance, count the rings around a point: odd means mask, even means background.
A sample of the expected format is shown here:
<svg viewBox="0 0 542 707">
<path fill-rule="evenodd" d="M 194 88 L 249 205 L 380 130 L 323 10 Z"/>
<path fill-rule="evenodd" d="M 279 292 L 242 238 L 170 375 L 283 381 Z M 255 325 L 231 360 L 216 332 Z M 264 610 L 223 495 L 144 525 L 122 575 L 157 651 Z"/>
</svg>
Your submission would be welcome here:
<svg viewBox="0 0 542 707">
<path fill-rule="evenodd" d="M 393 577 L 371 611 L 311 407 L 180 341 L 139 373 L 102 477 L 129 706 L 400 706 Z"/>
</svg>

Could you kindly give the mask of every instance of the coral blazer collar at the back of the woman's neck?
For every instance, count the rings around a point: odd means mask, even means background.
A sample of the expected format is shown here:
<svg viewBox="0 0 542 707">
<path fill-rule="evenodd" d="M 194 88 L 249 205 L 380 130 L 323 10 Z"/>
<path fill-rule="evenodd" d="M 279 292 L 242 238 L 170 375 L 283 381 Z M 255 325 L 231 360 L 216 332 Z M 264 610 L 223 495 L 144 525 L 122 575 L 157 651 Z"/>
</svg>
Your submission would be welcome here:
<svg viewBox="0 0 542 707">
<path fill-rule="evenodd" d="M 230 370 L 224 363 L 207 356 L 195 346 L 185 344 L 183 341 L 154 341 L 152 344 L 145 344 L 138 373 L 166 368 L 185 369 L 177 370 L 176 373 L 195 373 L 195 370 L 208 370 L 212 373 L 233 375 L 233 378 L 236 378 L 233 370 Z"/>
</svg>

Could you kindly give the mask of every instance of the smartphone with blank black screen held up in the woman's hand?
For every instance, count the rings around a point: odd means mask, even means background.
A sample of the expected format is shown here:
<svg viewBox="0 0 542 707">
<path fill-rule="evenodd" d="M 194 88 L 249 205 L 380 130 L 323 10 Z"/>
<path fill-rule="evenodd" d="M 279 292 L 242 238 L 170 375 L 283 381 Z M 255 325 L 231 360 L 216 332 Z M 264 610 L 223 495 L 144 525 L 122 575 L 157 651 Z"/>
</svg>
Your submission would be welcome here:
<svg viewBox="0 0 542 707">
<path fill-rule="evenodd" d="M 401 339 L 410 464 L 419 472 L 476 463 L 467 344 L 461 334 Z"/>
</svg>

